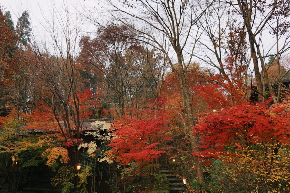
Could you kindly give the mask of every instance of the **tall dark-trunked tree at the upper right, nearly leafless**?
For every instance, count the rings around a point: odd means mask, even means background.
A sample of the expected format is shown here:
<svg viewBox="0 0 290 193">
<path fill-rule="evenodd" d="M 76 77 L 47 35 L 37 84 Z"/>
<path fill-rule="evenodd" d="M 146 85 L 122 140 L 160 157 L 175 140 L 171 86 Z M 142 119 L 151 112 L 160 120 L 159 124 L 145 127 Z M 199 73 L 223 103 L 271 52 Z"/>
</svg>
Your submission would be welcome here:
<svg viewBox="0 0 290 193">
<path fill-rule="evenodd" d="M 240 13 L 244 26 L 247 29 L 259 101 L 262 101 L 264 98 L 262 95 L 263 85 L 266 84 L 273 96 L 273 101 L 276 102 L 280 97 L 277 97 L 273 85 L 269 81 L 265 60 L 271 55 L 279 56 L 289 50 L 289 35 L 281 39 L 278 38 L 287 34 L 286 31 L 289 26 L 282 26 L 282 23 L 288 20 L 288 14 L 285 13 L 289 11 L 289 2 L 282 0 L 273 0 L 272 2 L 237 0 L 236 2 L 231 2 L 231 5 Z M 279 26 L 281 26 L 280 29 Z M 269 29 L 276 36 L 276 41 L 273 41 L 273 43 L 269 43 L 269 39 L 263 37 L 264 34 L 269 34 Z M 262 80 L 263 77 L 259 65 L 262 69 L 264 81 Z"/>
</svg>

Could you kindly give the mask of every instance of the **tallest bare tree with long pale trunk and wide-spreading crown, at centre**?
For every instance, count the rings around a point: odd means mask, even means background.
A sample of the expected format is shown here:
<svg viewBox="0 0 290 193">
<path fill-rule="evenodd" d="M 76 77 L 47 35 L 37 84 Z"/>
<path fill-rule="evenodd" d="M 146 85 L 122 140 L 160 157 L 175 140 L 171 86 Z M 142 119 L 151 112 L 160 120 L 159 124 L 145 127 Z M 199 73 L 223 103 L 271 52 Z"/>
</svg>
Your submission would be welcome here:
<svg viewBox="0 0 290 193">
<path fill-rule="evenodd" d="M 196 39 L 200 35 L 198 29 L 194 27 L 212 2 L 203 1 L 202 9 L 195 6 L 197 1 L 138 0 L 124 1 L 121 4 L 110 0 L 106 2 L 111 7 L 108 11 L 115 20 L 131 26 L 139 41 L 150 44 L 165 55 L 172 72 L 176 74 L 181 84 L 183 113 L 187 118 L 188 129 L 191 131 L 196 118 L 193 117 L 186 72 L 193 60 Z M 88 17 L 91 21 L 101 24 L 92 15 Z M 189 133 L 192 150 L 198 152 L 197 136 L 192 132 Z M 204 184 L 202 165 L 197 157 L 194 159 L 195 179 L 198 183 Z"/>
</svg>

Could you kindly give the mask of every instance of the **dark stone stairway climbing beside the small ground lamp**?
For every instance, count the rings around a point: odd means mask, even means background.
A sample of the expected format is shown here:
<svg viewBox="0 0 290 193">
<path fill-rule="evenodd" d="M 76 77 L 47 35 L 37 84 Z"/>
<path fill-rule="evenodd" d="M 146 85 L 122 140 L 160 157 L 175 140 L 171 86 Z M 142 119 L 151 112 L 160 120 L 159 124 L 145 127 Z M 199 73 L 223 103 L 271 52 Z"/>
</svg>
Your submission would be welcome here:
<svg viewBox="0 0 290 193">
<path fill-rule="evenodd" d="M 169 193 L 180 193 L 185 191 L 182 179 L 178 179 L 171 170 L 161 169 L 159 172 L 165 174 L 167 177 L 169 182 Z"/>
</svg>

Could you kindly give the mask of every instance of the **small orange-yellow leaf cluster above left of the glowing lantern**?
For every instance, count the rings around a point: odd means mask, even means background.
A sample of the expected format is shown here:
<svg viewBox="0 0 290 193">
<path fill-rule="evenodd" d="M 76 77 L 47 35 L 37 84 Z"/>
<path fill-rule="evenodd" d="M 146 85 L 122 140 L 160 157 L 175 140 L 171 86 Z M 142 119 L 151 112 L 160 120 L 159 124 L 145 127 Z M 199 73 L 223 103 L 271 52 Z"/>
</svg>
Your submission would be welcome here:
<svg viewBox="0 0 290 193">
<path fill-rule="evenodd" d="M 59 156 L 61 156 L 60 158 L 61 163 L 68 163 L 68 160 L 69 160 L 68 150 L 65 148 L 62 148 L 62 147 L 50 148 L 50 149 L 47 149 L 45 152 L 43 152 L 41 156 L 44 157 L 46 156 L 47 153 L 49 153 L 47 156 L 48 160 L 46 162 L 46 165 L 48 166 L 52 166 L 54 163 L 56 163 Z"/>
</svg>

